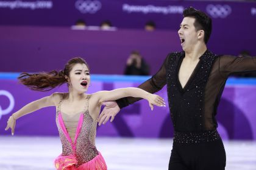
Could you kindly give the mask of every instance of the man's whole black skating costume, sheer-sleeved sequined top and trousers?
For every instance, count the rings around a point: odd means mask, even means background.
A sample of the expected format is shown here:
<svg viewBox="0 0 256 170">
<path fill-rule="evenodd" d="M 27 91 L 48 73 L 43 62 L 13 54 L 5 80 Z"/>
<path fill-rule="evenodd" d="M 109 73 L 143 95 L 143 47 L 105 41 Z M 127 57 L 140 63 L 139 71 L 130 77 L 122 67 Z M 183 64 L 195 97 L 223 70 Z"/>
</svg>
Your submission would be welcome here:
<svg viewBox="0 0 256 170">
<path fill-rule="evenodd" d="M 185 52 L 169 54 L 160 70 L 139 88 L 155 93 L 167 84 L 174 126 L 169 169 L 225 169 L 226 154 L 216 130 L 216 110 L 229 75 L 256 70 L 256 58 L 215 55 L 207 50 L 182 88 L 178 75 L 184 57 Z M 125 97 L 117 103 L 123 108 L 139 99 Z"/>
</svg>

